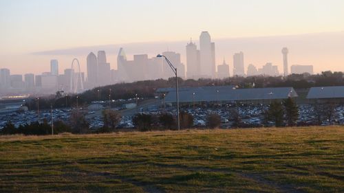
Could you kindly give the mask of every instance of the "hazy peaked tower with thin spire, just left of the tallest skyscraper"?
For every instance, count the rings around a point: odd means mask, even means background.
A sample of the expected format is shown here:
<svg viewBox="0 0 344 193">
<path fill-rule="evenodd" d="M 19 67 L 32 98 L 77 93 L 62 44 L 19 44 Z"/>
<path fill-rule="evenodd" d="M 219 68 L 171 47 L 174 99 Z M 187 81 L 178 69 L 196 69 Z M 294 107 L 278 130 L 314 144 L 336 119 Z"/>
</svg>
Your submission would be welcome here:
<svg viewBox="0 0 344 193">
<path fill-rule="evenodd" d="M 186 67 L 187 78 L 200 78 L 200 50 L 192 41 L 186 45 Z"/>
</svg>

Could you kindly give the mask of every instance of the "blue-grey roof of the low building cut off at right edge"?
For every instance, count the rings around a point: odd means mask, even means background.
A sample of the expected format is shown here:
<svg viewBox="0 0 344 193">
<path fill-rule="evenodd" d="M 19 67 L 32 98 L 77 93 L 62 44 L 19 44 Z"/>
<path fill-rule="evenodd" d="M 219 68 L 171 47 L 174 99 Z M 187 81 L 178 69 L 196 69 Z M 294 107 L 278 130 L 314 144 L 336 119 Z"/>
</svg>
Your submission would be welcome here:
<svg viewBox="0 0 344 193">
<path fill-rule="evenodd" d="M 344 87 L 312 87 L 307 98 L 344 98 Z"/>
</svg>

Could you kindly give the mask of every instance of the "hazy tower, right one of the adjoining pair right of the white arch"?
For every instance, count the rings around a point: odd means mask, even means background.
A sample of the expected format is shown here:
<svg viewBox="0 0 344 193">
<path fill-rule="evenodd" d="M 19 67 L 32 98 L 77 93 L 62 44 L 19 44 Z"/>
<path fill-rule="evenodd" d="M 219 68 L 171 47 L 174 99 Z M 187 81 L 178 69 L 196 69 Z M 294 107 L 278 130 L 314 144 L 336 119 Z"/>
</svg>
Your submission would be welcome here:
<svg viewBox="0 0 344 193">
<path fill-rule="evenodd" d="M 98 86 L 105 86 L 111 82 L 110 64 L 107 63 L 105 51 L 98 52 Z"/>
</svg>

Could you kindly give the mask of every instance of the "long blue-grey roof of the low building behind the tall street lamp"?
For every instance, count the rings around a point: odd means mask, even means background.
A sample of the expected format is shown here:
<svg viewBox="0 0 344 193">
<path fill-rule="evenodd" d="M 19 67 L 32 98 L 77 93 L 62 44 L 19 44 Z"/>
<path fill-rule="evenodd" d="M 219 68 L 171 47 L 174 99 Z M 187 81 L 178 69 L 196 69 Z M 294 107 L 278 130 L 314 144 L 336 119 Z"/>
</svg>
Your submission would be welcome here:
<svg viewBox="0 0 344 193">
<path fill-rule="evenodd" d="M 218 91 L 218 92 L 217 92 Z M 195 94 L 193 94 L 195 93 Z M 273 100 L 298 97 L 292 87 L 235 89 L 235 87 L 195 87 L 179 91 L 180 102 L 211 102 L 237 100 Z M 166 95 L 166 102 L 175 102 L 175 89 Z"/>
</svg>

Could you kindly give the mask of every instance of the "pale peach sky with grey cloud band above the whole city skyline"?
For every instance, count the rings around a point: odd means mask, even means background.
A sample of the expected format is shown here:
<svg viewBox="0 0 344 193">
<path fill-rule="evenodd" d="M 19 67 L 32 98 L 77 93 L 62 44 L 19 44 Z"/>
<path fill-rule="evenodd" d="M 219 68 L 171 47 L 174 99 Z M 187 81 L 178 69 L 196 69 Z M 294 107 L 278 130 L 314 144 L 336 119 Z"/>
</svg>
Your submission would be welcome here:
<svg viewBox="0 0 344 193">
<path fill-rule="evenodd" d="M 89 52 L 105 50 L 117 69 L 120 47 L 128 58 L 165 51 L 181 54 L 200 32 L 216 46 L 216 65 L 224 58 L 233 71 L 233 54 L 245 65 L 272 63 L 283 71 L 281 48 L 290 65 L 314 65 L 314 73 L 343 71 L 343 1 L 0 1 L 0 68 L 11 73 L 59 73 L 73 58 L 86 72 Z M 246 68 L 245 67 L 245 68 Z M 246 69 L 245 69 L 246 70 Z"/>
</svg>

